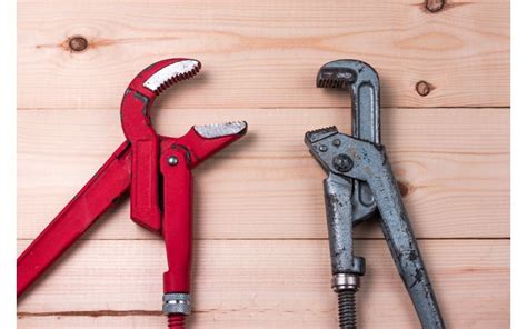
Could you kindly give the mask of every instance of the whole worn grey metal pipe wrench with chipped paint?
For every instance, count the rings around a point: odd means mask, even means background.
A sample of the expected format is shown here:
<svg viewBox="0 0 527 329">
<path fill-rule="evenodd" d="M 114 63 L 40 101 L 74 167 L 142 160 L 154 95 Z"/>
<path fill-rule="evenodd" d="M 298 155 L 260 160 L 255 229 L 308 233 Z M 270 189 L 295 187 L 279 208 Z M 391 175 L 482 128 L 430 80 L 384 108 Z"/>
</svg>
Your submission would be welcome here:
<svg viewBox="0 0 527 329">
<path fill-rule="evenodd" d="M 339 296 L 340 328 L 356 328 L 355 292 L 366 261 L 354 255 L 352 227 L 380 215 L 380 228 L 422 328 L 445 328 L 397 181 L 380 143 L 377 72 L 358 60 L 322 66 L 318 88 L 351 92 L 352 134 L 336 127 L 306 133 L 310 153 L 328 173 L 324 181 L 331 253 L 332 289 Z"/>
</svg>

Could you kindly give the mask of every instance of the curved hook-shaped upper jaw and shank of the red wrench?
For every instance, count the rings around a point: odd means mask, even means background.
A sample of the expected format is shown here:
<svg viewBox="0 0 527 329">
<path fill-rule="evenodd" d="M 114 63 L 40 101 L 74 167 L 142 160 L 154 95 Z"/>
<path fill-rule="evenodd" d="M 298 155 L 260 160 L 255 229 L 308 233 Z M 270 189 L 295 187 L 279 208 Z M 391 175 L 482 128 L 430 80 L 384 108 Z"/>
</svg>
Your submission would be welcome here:
<svg viewBox="0 0 527 329">
<path fill-rule="evenodd" d="M 149 230 L 161 230 L 159 137 L 152 128 L 150 109 L 159 93 L 193 77 L 200 68 L 199 61 L 183 58 L 159 61 L 137 74 L 122 98 L 121 126 L 133 154 L 130 217 Z"/>
</svg>

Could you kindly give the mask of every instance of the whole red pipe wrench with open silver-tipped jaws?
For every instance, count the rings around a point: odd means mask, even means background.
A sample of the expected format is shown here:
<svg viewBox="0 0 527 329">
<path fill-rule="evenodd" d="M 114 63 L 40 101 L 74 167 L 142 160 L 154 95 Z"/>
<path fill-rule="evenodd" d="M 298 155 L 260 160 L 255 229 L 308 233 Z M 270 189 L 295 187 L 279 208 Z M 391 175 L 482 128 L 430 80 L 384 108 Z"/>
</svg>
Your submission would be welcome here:
<svg viewBox="0 0 527 329">
<path fill-rule="evenodd" d="M 192 78 L 200 68 L 197 60 L 168 59 L 132 80 L 121 103 L 127 141 L 18 258 L 18 296 L 130 189 L 131 219 L 165 239 L 163 312 L 169 316 L 169 328 L 183 328 L 191 309 L 191 170 L 247 131 L 242 121 L 195 126 L 179 138 L 156 133 L 150 109 L 157 96 Z"/>
</svg>

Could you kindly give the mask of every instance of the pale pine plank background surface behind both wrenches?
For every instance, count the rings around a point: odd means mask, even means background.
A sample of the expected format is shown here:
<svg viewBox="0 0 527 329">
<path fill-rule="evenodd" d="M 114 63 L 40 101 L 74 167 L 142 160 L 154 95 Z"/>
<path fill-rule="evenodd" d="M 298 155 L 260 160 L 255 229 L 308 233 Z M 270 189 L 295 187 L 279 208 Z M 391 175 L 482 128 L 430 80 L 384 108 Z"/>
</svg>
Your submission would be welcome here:
<svg viewBox="0 0 527 329">
<path fill-rule="evenodd" d="M 197 58 L 202 72 L 157 102 L 158 131 L 247 120 L 249 133 L 195 172 L 190 327 L 336 328 L 325 175 L 302 139 L 350 132 L 349 96 L 315 77 L 357 58 L 380 74 L 384 143 L 448 328 L 509 327 L 507 0 L 20 0 L 18 28 L 19 252 L 123 140 L 129 80 Z M 165 326 L 163 245 L 128 208 L 19 300 L 19 328 Z M 360 328 L 419 328 L 375 221 L 357 237 Z"/>
</svg>

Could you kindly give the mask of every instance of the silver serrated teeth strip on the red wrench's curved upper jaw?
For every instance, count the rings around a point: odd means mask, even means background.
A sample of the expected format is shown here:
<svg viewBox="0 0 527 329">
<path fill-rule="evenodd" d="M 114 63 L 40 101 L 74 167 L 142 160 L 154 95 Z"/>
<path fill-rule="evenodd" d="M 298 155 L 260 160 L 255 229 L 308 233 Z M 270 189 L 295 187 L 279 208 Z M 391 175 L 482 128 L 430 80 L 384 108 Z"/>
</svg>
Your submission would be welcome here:
<svg viewBox="0 0 527 329">
<path fill-rule="evenodd" d="M 197 60 L 188 59 L 178 61 L 153 73 L 145 81 L 143 87 L 150 89 L 158 96 L 172 84 L 192 78 L 200 69 L 201 63 Z"/>
</svg>

